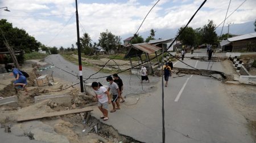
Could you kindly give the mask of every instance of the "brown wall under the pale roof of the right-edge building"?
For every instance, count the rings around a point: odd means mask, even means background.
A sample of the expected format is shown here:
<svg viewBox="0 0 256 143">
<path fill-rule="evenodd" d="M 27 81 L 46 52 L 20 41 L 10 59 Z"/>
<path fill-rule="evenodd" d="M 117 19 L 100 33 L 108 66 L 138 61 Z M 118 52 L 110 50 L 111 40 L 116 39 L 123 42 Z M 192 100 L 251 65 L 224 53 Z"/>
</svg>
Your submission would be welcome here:
<svg viewBox="0 0 256 143">
<path fill-rule="evenodd" d="M 256 51 L 256 37 L 246 40 L 233 41 L 233 51 Z"/>
</svg>

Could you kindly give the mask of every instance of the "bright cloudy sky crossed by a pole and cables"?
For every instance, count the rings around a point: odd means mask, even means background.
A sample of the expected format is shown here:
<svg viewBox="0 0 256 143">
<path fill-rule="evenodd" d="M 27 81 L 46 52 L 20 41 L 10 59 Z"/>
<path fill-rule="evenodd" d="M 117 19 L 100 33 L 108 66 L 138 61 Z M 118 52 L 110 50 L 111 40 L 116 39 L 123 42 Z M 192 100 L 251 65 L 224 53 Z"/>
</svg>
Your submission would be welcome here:
<svg viewBox="0 0 256 143">
<path fill-rule="evenodd" d="M 154 5 L 155 0 L 78 0 L 80 36 L 89 33 L 93 42 L 98 42 L 100 33 L 108 29 L 121 36 L 132 36 L 144 16 Z M 163 29 L 177 29 L 185 25 L 203 0 L 160 0 L 144 21 L 139 33 Z M 232 0 L 228 15 L 243 0 Z M 229 0 L 208 0 L 197 13 L 189 26 L 202 27 L 212 19 L 220 24 L 226 14 Z M 0 11 L 1 19 L 7 19 L 14 27 L 25 29 L 36 40 L 48 46 L 68 47 L 75 44 L 76 15 L 75 0 L 8 0 L 0 1 L 11 12 Z M 246 23 L 256 19 L 256 1 L 247 0 L 226 21 L 227 23 Z M 170 35 L 170 38 L 173 38 Z M 146 38 L 146 37 L 144 37 Z"/>
</svg>

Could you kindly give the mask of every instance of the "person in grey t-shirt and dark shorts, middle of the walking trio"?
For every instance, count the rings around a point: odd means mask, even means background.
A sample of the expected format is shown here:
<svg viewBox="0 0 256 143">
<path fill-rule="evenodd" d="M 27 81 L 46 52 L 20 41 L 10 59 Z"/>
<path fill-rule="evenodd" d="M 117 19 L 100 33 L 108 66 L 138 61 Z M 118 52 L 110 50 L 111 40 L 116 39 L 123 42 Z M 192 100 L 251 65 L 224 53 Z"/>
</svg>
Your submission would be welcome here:
<svg viewBox="0 0 256 143">
<path fill-rule="evenodd" d="M 106 78 L 106 81 L 109 82 L 108 91 L 110 91 L 110 93 L 112 93 L 112 96 L 113 96 L 112 97 L 113 110 L 111 110 L 110 112 L 115 112 L 116 109 L 120 109 L 120 104 L 117 99 L 119 96 L 121 96 L 120 91 L 119 91 L 118 85 L 114 83 L 112 76 L 108 76 Z"/>
</svg>

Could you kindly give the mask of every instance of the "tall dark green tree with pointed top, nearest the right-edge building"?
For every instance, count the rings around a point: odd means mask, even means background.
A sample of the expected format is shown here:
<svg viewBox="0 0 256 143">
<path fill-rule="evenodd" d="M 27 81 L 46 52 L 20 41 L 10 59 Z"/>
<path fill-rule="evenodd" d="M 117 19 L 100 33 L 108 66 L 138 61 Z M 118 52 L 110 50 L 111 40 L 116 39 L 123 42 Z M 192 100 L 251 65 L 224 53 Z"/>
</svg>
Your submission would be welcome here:
<svg viewBox="0 0 256 143">
<path fill-rule="evenodd" d="M 208 24 L 204 25 L 202 28 L 202 42 L 205 44 L 216 44 L 217 34 L 214 31 L 216 25 L 213 23 L 213 20 L 208 20 Z"/>
</svg>

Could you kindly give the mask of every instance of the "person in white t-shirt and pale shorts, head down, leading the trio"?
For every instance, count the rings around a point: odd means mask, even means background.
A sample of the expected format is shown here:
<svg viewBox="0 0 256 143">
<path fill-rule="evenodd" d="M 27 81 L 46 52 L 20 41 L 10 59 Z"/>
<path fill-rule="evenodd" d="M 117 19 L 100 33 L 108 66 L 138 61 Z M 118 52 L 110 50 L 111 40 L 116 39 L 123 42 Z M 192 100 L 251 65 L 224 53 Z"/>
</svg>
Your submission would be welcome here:
<svg viewBox="0 0 256 143">
<path fill-rule="evenodd" d="M 101 83 L 93 82 L 92 88 L 94 89 L 94 92 L 96 93 L 96 99 L 98 101 L 98 109 L 102 112 L 101 119 L 108 120 L 108 106 L 111 103 L 110 94 L 109 91 L 102 86 Z"/>
</svg>

